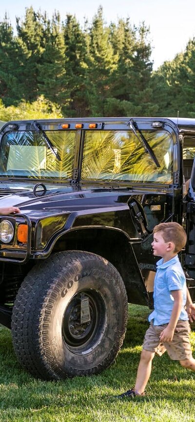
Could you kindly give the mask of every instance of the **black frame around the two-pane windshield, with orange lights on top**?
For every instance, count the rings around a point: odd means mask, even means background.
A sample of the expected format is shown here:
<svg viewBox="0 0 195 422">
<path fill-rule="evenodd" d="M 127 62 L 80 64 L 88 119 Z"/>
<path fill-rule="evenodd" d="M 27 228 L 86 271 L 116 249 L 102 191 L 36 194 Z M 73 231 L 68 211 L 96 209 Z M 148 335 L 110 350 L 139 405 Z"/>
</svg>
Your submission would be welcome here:
<svg viewBox="0 0 195 422">
<path fill-rule="evenodd" d="M 129 120 L 133 118 L 134 122 L 137 124 L 140 131 L 150 130 L 151 128 L 156 128 L 156 130 L 159 130 L 159 128 L 162 128 L 169 132 L 170 136 L 173 138 L 174 142 L 174 184 L 175 186 L 180 185 L 180 179 L 182 178 L 182 168 L 180 165 L 180 139 L 179 139 L 179 129 L 178 125 L 176 124 L 176 119 L 169 118 L 169 117 L 65 117 L 65 118 L 57 118 L 57 119 L 39 119 L 36 120 L 39 123 L 39 127 L 41 127 L 42 130 L 50 134 L 50 131 L 61 131 L 64 130 L 63 127 L 68 127 L 69 130 L 74 130 L 76 132 L 75 137 L 75 155 L 74 155 L 74 164 L 73 164 L 73 174 L 71 177 L 71 180 L 68 180 L 69 183 L 74 183 L 75 188 L 76 184 L 92 184 L 92 181 L 88 180 L 81 180 L 81 168 L 82 168 L 82 153 L 83 153 L 83 144 L 84 144 L 84 133 L 86 130 L 89 130 L 90 124 L 95 124 L 97 129 L 95 130 L 127 130 L 129 128 Z M 27 131 L 27 130 L 33 130 L 33 123 L 35 120 L 14 120 L 7 122 L 3 125 L 3 127 L 0 129 L 0 144 L 2 141 L 2 138 L 4 134 L 7 132 L 10 132 L 11 130 L 16 131 Z M 79 123 L 79 125 L 78 125 Z M 157 123 L 157 125 L 156 125 Z M 76 129 L 76 126 L 82 127 L 82 129 Z M 67 129 L 66 129 L 67 130 Z M 91 131 L 92 131 L 91 130 Z M 1 183 L 7 180 L 14 181 L 26 181 L 28 182 L 28 178 L 17 176 L 16 178 L 9 176 L 3 177 L 0 176 Z M 46 180 L 44 178 L 40 178 L 38 180 L 42 180 L 43 182 Z M 31 178 L 31 181 L 36 181 L 35 178 Z M 47 181 L 47 180 L 46 180 Z M 67 180 L 59 180 L 51 179 L 52 183 L 67 183 Z M 117 183 L 116 183 L 117 182 Z M 93 180 L 93 185 L 101 185 L 102 187 L 116 187 L 119 188 L 120 186 L 124 187 L 132 187 L 132 182 L 126 182 L 123 180 L 117 180 L 117 181 L 95 181 Z M 135 184 L 135 187 L 137 187 L 138 183 Z M 148 183 L 142 183 L 141 185 L 147 187 L 150 187 L 151 184 Z M 154 188 L 155 183 L 153 184 Z M 157 186 L 157 185 L 156 185 Z M 168 185 L 160 185 L 163 189 L 167 189 Z M 171 185 L 170 185 L 171 187 Z"/>
</svg>

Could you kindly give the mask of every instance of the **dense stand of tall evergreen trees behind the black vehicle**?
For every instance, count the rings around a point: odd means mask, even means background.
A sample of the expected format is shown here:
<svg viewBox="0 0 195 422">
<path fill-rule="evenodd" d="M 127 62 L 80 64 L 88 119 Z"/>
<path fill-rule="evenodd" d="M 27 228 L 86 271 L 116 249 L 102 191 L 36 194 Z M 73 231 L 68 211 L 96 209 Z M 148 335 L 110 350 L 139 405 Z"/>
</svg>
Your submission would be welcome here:
<svg viewBox="0 0 195 422">
<path fill-rule="evenodd" d="M 25 9 L 16 31 L 0 21 L 0 119 L 82 116 L 195 117 L 195 38 L 156 71 L 147 22 L 81 26 L 76 16 Z M 166 48 L 166 45 L 165 47 Z"/>
</svg>

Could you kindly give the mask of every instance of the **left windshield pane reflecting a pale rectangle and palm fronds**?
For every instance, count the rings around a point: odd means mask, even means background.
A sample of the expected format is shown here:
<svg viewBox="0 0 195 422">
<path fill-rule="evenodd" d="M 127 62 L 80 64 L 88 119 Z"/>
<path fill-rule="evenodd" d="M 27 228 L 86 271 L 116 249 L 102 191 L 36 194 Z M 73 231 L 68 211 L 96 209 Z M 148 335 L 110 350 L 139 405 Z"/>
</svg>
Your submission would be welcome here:
<svg viewBox="0 0 195 422">
<path fill-rule="evenodd" d="M 0 176 L 70 179 L 73 171 L 75 131 L 8 132 L 0 149 Z M 60 157 L 60 159 L 58 159 Z"/>
</svg>

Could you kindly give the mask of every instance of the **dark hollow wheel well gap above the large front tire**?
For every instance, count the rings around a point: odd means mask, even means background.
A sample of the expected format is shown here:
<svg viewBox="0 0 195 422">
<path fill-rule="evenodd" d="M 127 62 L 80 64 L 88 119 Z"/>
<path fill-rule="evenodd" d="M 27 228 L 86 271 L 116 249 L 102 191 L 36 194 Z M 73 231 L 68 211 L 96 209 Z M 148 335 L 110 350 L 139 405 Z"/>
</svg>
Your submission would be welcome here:
<svg viewBox="0 0 195 422">
<path fill-rule="evenodd" d="M 75 228 L 63 234 L 52 253 L 62 250 L 83 250 L 106 258 L 120 273 L 129 303 L 148 304 L 145 284 L 129 237 L 113 228 Z"/>
</svg>

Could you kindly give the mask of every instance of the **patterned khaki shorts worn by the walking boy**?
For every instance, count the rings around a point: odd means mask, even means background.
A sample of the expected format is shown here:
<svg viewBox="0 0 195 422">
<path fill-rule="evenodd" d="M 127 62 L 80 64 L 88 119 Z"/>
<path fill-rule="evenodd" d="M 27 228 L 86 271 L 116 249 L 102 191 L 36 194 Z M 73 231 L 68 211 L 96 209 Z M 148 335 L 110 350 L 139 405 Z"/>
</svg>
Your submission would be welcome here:
<svg viewBox="0 0 195 422">
<path fill-rule="evenodd" d="M 168 324 L 154 326 L 150 324 L 146 331 L 143 349 L 155 352 L 161 356 L 166 350 L 173 361 L 184 361 L 192 358 L 192 350 L 189 340 L 190 324 L 188 321 L 178 321 L 174 332 L 173 340 L 170 343 L 161 343 L 159 335 Z"/>
</svg>

